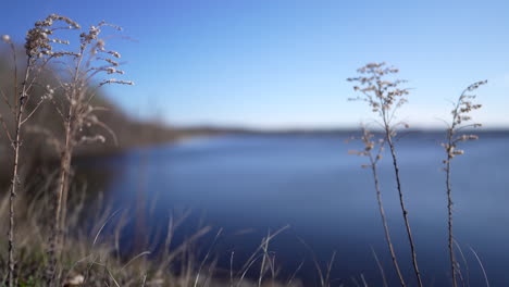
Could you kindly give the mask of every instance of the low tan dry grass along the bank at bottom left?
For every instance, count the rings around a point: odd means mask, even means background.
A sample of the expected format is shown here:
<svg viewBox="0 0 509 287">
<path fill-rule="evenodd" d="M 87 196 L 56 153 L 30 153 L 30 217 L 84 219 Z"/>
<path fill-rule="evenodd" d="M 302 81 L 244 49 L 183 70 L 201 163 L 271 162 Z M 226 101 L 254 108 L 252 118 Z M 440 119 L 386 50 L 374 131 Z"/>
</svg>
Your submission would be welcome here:
<svg viewBox="0 0 509 287">
<path fill-rule="evenodd" d="M 48 185 L 46 190 L 41 189 L 34 197 L 20 197 L 16 201 L 15 208 L 24 211 L 16 213 L 16 286 L 47 286 L 46 270 L 50 264 L 47 238 L 51 234 L 47 222 L 51 221 L 52 214 L 41 207 L 50 203 L 51 198 L 46 196 L 50 189 Z M 62 257 L 57 271 L 62 277 L 60 286 L 301 286 L 296 276 L 290 279 L 278 276 L 275 255 L 270 250 L 271 240 L 287 227 L 270 233 L 240 270 L 231 269 L 229 278 L 221 279 L 216 276 L 214 244 L 206 244 L 210 247 L 204 255 L 198 251 L 203 236 L 212 232 L 210 226 L 197 228 L 185 241 L 175 245 L 175 233 L 188 214 L 170 217 L 163 248 L 153 252 L 156 249 L 147 245 L 144 251 L 125 257 L 126 252 L 120 250 L 120 234 L 129 220 L 127 209 L 105 208 L 100 203 L 103 202 L 101 197 L 97 203 L 90 204 L 86 200 L 87 190 L 73 191 L 82 195 L 70 202 L 73 208 L 69 213 L 67 227 L 72 233 L 61 246 Z M 0 233 L 8 229 L 8 205 L 9 197 L 0 199 Z M 85 213 L 95 214 L 94 226 L 84 224 Z M 215 239 L 220 236 L 221 229 L 216 232 Z M 150 240 L 145 239 L 147 242 Z M 0 253 L 7 254 L 5 242 L 0 244 Z M 0 269 L 5 270 L 5 258 L 0 258 Z M 254 272 L 257 269 L 259 271 Z M 259 277 L 248 278 L 247 274 L 253 272 L 259 273 Z"/>
</svg>

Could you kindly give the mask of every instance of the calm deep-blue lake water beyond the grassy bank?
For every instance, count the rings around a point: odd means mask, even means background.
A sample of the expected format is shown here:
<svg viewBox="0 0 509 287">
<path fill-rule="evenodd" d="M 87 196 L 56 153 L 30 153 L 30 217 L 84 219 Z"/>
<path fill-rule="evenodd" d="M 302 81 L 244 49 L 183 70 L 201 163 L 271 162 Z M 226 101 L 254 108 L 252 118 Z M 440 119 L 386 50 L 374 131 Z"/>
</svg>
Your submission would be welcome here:
<svg viewBox="0 0 509 287">
<path fill-rule="evenodd" d="M 139 202 L 150 207 L 146 228 L 164 229 L 170 212 L 186 208 L 203 225 L 223 227 L 216 249 L 224 269 L 228 269 L 232 251 L 241 261 L 243 254 L 252 252 L 269 229 L 289 225 L 270 248 L 283 267 L 283 277 L 305 260 L 298 277 L 312 286 L 318 283 L 312 253 L 325 265 L 336 251 L 334 285 L 351 286 L 351 277 L 360 282 L 362 275 L 370 286 L 382 286 L 373 248 L 389 285 L 396 286 L 371 173 L 360 166 L 365 159 L 347 153 L 360 148 L 358 142 L 345 144 L 348 136 L 197 138 L 132 150 L 104 160 L 101 165 L 115 171 L 107 190 L 111 202 L 117 208 Z M 442 136 L 410 134 L 396 147 L 418 262 L 426 286 L 449 285 Z M 485 285 L 470 247 L 481 258 L 492 286 L 507 286 L 509 134 L 480 136 L 480 140 L 467 142 L 465 154 L 452 162 L 455 236 L 464 253 L 468 274 L 463 260 L 459 254 L 457 258 L 463 277 L 470 277 L 470 286 Z M 383 200 L 401 270 L 414 286 L 388 155 L 380 163 Z M 153 240 L 158 238 L 154 236 Z"/>
</svg>

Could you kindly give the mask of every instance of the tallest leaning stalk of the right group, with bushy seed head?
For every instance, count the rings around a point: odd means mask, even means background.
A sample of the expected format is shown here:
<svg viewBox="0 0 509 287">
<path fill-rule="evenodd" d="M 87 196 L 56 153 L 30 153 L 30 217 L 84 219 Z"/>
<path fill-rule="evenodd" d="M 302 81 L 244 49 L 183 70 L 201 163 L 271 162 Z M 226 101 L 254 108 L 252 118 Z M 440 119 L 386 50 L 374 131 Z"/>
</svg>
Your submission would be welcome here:
<svg viewBox="0 0 509 287">
<path fill-rule="evenodd" d="M 385 133 L 385 140 L 390 149 L 390 155 L 393 158 L 393 166 L 396 177 L 396 185 L 399 196 L 399 204 L 401 208 L 405 227 L 408 235 L 408 241 L 410 245 L 410 251 L 412 255 L 412 265 L 415 273 L 418 285 L 422 287 L 421 273 L 417 262 L 415 245 L 413 241 L 410 223 L 408 220 L 408 210 L 405 205 L 404 194 L 401 190 L 401 180 L 399 174 L 399 165 L 396 157 L 396 150 L 394 145 L 394 136 L 396 135 L 396 126 L 393 125 L 395 112 L 407 102 L 405 96 L 409 93 L 407 88 L 399 88 L 399 86 L 406 80 L 395 79 L 387 80 L 386 76 L 396 74 L 399 72 L 398 68 L 387 67 L 385 63 L 370 63 L 357 71 L 361 76 L 355 78 L 348 78 L 349 82 L 358 82 L 360 86 L 355 86 L 353 90 L 360 91 L 362 97 L 357 97 L 352 100 L 362 100 L 368 102 L 374 113 L 382 118 L 382 126 Z"/>
</svg>

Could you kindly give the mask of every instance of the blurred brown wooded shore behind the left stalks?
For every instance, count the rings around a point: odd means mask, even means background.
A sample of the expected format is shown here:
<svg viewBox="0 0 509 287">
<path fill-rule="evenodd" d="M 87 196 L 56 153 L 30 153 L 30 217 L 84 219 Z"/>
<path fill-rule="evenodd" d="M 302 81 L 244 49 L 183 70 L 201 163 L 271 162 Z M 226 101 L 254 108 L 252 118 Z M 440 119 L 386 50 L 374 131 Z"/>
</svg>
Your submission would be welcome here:
<svg viewBox="0 0 509 287">
<path fill-rule="evenodd" d="M 23 49 L 18 49 L 17 59 L 25 59 Z M 18 66 L 23 67 L 23 62 L 18 61 Z M 24 71 L 20 71 L 21 74 Z M 28 103 L 27 110 L 33 110 L 37 104 L 38 99 L 45 93 L 45 86 L 57 86 L 57 71 L 49 68 L 42 77 L 38 79 L 39 85 L 34 86 L 32 93 L 34 95 L 32 102 Z M 0 87 L 4 97 L 12 96 L 14 90 L 14 63 L 13 57 L 8 49 L 0 51 Z M 15 95 L 15 93 L 14 93 Z M 3 97 L 2 96 L 2 97 Z M 54 97 L 54 100 L 59 99 Z M 111 154 L 121 152 L 125 149 L 139 147 L 144 145 L 157 145 L 167 141 L 173 141 L 178 138 L 193 136 L 196 134 L 210 134 L 214 130 L 207 128 L 188 128 L 177 129 L 169 126 L 167 124 L 159 123 L 156 121 L 137 121 L 129 117 L 114 103 L 109 101 L 100 91 L 92 99 L 94 105 L 104 108 L 103 111 L 98 112 L 99 120 L 105 124 L 112 133 L 101 129 L 100 127 L 90 127 L 90 130 L 85 133 L 94 135 L 98 132 L 105 137 L 105 142 L 96 142 L 91 145 L 82 146 L 76 150 L 76 159 L 84 157 L 95 157 L 101 154 Z M 13 126 L 13 115 L 9 112 L 9 105 L 0 104 L 0 114 L 3 116 L 3 122 L 7 127 Z M 101 130 L 97 130 L 97 129 Z M 49 135 L 49 133 L 51 135 Z M 42 175 L 45 171 L 54 170 L 58 164 L 59 154 L 55 154 L 54 148 L 51 146 L 52 138 L 62 138 L 64 133 L 63 122 L 58 115 L 54 105 L 50 101 L 42 102 L 41 107 L 30 118 L 27 126 L 22 130 L 22 166 L 24 174 Z M 0 190 L 7 190 L 9 187 L 9 173 L 12 162 L 12 152 L 9 148 L 9 138 L 4 133 L 0 133 Z M 22 177 L 24 178 L 24 177 Z"/>
</svg>

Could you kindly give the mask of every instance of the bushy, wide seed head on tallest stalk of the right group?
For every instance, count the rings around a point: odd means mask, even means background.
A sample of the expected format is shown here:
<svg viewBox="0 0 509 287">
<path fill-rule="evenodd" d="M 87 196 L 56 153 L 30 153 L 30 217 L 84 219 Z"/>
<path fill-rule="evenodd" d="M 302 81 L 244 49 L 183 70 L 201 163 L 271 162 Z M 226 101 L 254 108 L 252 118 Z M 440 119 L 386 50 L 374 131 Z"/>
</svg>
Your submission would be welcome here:
<svg viewBox="0 0 509 287">
<path fill-rule="evenodd" d="M 401 107 L 409 95 L 407 88 L 399 86 L 406 80 L 389 79 L 389 76 L 397 74 L 398 68 L 386 66 L 385 62 L 370 63 L 357 70 L 358 77 L 348 78 L 348 82 L 356 82 L 353 90 L 362 95 L 350 100 L 362 100 L 369 103 L 372 111 L 378 113 L 385 123 L 389 123 L 394 116 L 394 110 Z"/>
</svg>

